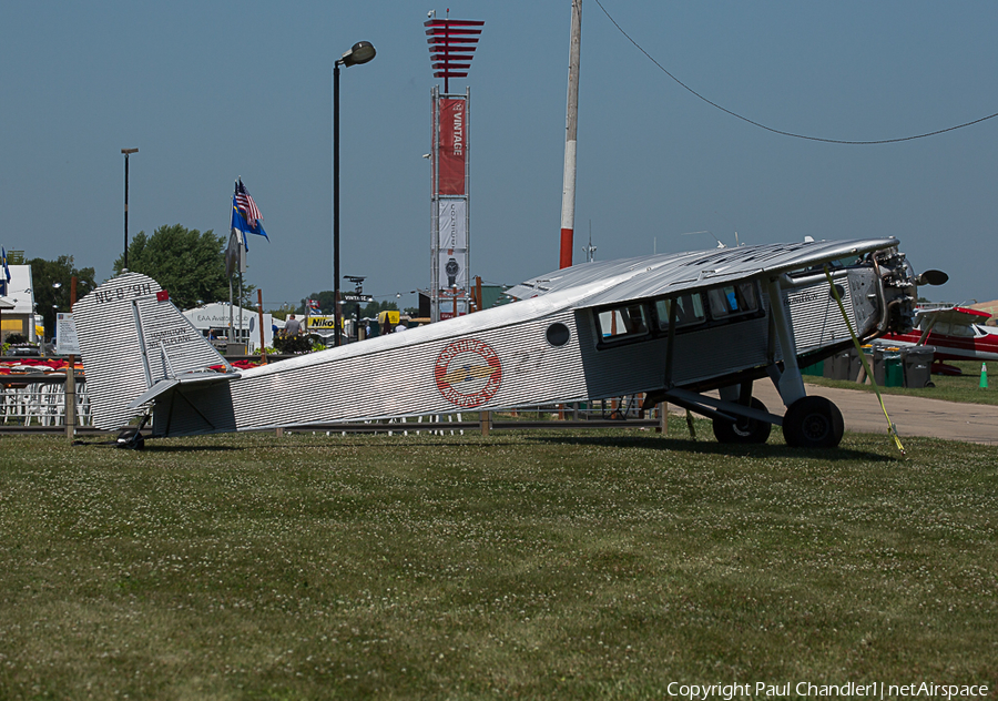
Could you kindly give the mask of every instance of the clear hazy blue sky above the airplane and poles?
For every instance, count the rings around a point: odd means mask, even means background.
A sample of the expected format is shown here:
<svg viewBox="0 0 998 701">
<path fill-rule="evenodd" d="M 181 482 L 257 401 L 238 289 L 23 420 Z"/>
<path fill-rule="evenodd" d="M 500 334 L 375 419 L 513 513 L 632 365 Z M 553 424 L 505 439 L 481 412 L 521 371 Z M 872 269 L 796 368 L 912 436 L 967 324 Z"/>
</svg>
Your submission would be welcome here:
<svg viewBox="0 0 998 701">
<path fill-rule="evenodd" d="M 998 297 L 994 2 L 583 0 L 574 260 L 743 243 L 897 236 Z M 232 184 L 271 235 L 247 281 L 265 306 L 332 284 L 332 67 L 344 69 L 342 272 L 415 304 L 430 280 L 432 78 L 422 22 L 485 20 L 471 88 L 471 273 L 513 284 L 558 266 L 570 0 L 7 2 L 0 6 L 0 243 L 110 275 L 129 231 L 226 234 Z"/>
</svg>

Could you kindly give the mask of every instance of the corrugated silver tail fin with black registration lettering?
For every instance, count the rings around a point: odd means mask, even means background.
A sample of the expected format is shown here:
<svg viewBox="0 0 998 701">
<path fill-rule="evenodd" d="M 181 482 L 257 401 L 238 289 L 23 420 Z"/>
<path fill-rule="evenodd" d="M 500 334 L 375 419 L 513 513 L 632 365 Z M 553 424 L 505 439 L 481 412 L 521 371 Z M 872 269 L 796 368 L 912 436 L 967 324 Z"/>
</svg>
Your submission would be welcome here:
<svg viewBox="0 0 998 701">
<path fill-rule="evenodd" d="M 124 273 L 73 305 L 93 424 L 112 430 L 142 414 L 129 408 L 163 379 L 232 366 L 151 277 Z"/>
</svg>

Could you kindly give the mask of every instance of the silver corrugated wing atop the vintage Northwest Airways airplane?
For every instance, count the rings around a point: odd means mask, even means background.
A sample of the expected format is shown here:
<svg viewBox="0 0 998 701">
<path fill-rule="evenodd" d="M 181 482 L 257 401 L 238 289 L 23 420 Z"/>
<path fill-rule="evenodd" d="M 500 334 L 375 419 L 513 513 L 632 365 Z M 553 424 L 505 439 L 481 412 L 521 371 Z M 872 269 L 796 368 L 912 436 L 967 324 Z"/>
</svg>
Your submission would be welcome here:
<svg viewBox="0 0 998 701">
<path fill-rule="evenodd" d="M 590 294 L 580 306 L 599 306 L 780 275 L 844 258 L 853 263 L 867 253 L 896 245 L 893 237 L 807 241 L 584 263 L 528 280 L 506 294 L 529 299 L 588 287 Z"/>
</svg>

